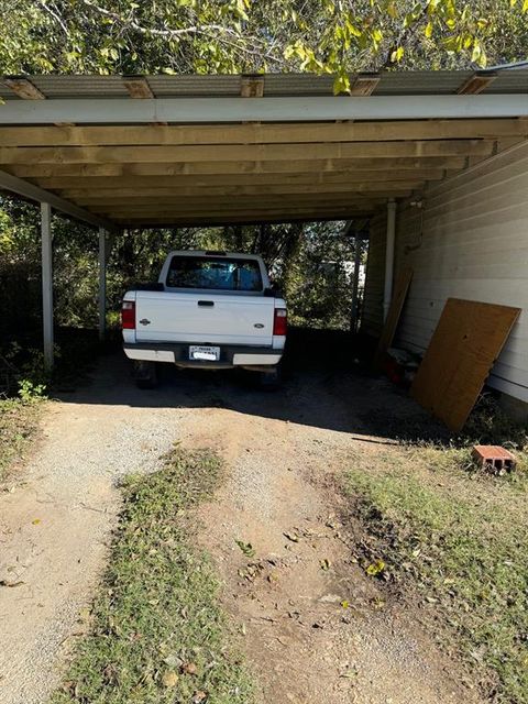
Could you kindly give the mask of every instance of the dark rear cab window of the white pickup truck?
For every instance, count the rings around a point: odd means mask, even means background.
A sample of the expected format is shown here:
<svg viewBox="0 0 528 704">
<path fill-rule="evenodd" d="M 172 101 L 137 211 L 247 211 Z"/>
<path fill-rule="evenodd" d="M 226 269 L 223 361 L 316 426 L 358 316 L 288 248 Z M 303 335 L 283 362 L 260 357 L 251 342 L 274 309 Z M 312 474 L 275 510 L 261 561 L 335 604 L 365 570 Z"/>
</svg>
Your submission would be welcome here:
<svg viewBox="0 0 528 704">
<path fill-rule="evenodd" d="M 255 260 L 231 257 L 173 256 L 166 285 L 169 288 L 262 290 L 262 275 Z"/>
</svg>

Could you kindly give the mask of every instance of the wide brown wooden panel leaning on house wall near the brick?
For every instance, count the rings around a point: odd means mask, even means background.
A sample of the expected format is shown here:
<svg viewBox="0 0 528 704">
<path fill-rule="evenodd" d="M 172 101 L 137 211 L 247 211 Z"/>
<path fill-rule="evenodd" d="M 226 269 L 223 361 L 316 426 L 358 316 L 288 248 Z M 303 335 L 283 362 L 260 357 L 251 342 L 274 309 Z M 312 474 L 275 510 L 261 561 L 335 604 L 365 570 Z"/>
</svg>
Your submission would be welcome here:
<svg viewBox="0 0 528 704">
<path fill-rule="evenodd" d="M 461 430 L 520 308 L 449 298 L 411 387 L 413 397 Z"/>
</svg>

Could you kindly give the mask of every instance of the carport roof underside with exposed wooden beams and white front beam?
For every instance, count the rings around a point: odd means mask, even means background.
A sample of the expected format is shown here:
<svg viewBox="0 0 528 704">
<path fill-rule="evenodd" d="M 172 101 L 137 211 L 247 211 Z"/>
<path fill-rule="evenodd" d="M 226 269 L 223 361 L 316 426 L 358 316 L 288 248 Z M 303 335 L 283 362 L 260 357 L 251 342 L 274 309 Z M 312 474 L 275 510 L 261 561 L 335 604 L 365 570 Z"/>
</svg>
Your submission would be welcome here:
<svg viewBox="0 0 528 704">
<path fill-rule="evenodd" d="M 0 169 L 118 227 L 350 219 L 528 135 L 528 69 L 351 81 L 4 77 Z"/>
</svg>

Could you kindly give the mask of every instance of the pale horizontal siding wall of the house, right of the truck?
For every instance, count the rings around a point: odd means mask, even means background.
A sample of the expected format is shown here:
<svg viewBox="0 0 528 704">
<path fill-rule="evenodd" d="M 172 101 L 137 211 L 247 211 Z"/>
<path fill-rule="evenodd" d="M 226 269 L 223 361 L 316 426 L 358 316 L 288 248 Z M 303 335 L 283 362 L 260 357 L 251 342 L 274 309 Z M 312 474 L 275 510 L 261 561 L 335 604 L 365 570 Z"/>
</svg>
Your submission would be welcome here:
<svg viewBox="0 0 528 704">
<path fill-rule="evenodd" d="M 376 221 L 372 234 L 375 282 L 365 310 L 374 324 L 365 331 L 378 334 L 385 235 Z M 422 353 L 448 297 L 522 308 L 488 384 L 528 403 L 528 143 L 428 188 L 422 209 L 400 206 L 395 276 L 404 266 L 414 278 L 398 346 Z"/>
</svg>

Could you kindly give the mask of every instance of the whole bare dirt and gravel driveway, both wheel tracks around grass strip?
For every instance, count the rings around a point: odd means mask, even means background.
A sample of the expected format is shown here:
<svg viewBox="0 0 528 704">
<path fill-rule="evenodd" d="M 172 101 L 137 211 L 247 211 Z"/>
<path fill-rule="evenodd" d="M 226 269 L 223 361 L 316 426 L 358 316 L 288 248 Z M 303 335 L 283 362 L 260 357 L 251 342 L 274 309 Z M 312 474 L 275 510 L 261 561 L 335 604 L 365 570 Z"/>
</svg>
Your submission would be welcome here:
<svg viewBox="0 0 528 704">
<path fill-rule="evenodd" d="M 0 580 L 12 585 L 0 587 L 2 704 L 46 701 L 105 564 L 116 482 L 153 468 L 175 440 L 227 461 L 197 539 L 263 702 L 476 702 L 413 609 L 385 603 L 355 563 L 342 518 L 336 476 L 354 453 L 392 442 L 371 433 L 365 409 L 405 403 L 380 382 L 306 370 L 275 394 L 173 371 L 139 392 L 121 358 L 102 360 L 89 387 L 51 405 L 29 466 L 0 495 Z"/>
</svg>

